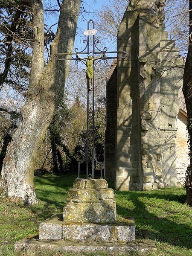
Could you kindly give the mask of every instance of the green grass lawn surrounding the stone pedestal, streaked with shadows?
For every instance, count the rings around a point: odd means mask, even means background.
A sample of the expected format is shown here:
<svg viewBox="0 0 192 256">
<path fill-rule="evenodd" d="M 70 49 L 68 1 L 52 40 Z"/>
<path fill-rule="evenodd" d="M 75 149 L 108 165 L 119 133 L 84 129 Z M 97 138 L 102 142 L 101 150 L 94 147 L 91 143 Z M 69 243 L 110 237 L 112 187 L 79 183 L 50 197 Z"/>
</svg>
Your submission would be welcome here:
<svg viewBox="0 0 192 256">
<path fill-rule="evenodd" d="M 75 176 L 35 177 L 39 203 L 32 207 L 0 198 L 0 256 L 71 256 L 71 253 L 15 253 L 14 243 L 38 233 L 39 222 L 62 212 L 67 190 Z M 112 187 L 112 184 L 109 184 Z M 157 252 L 144 255 L 192 256 L 192 208 L 183 205 L 185 190 L 169 188 L 150 192 L 115 191 L 117 218 L 134 217 L 137 239 L 152 239 Z M 80 255 L 80 254 L 76 254 Z M 89 256 L 107 256 L 103 252 Z M 142 255 L 131 253 L 129 255 Z"/>
</svg>

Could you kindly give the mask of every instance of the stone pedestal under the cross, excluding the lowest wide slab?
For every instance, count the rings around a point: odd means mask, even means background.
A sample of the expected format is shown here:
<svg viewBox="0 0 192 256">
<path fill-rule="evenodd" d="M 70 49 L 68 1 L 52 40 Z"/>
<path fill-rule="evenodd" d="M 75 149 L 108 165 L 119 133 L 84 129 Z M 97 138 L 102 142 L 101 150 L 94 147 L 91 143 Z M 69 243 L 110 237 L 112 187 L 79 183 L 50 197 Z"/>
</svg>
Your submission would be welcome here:
<svg viewBox="0 0 192 256">
<path fill-rule="evenodd" d="M 40 240 L 127 243 L 135 240 L 133 220 L 116 222 L 113 189 L 104 179 L 76 179 L 67 192 L 63 215 L 39 225 Z"/>
</svg>

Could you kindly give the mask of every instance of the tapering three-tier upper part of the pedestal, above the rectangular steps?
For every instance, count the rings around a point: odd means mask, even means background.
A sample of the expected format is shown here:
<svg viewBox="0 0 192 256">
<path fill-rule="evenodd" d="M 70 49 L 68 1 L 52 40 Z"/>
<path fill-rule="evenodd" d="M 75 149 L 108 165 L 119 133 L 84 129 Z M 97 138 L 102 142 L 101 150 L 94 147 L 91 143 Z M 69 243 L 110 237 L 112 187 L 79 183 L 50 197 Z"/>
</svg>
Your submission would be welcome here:
<svg viewBox="0 0 192 256">
<path fill-rule="evenodd" d="M 64 223 L 114 223 L 116 203 L 113 189 L 104 179 L 76 179 L 67 192 Z"/>
</svg>

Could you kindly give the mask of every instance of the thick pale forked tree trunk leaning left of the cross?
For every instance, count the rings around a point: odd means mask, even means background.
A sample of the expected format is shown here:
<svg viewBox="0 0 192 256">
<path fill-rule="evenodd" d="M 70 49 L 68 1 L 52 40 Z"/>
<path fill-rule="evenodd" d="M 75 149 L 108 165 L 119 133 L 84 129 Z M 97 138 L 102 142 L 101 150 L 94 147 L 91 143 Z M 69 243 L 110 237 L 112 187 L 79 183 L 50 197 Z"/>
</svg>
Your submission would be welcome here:
<svg viewBox="0 0 192 256">
<path fill-rule="evenodd" d="M 0 186 L 14 201 L 37 203 L 33 160 L 64 93 L 69 61 L 57 61 L 58 52 L 72 52 L 81 0 L 63 0 L 51 57 L 44 70 L 44 16 L 42 0 L 30 0 L 35 44 L 23 121 L 9 144 Z M 66 57 L 67 58 L 67 57 Z"/>
</svg>

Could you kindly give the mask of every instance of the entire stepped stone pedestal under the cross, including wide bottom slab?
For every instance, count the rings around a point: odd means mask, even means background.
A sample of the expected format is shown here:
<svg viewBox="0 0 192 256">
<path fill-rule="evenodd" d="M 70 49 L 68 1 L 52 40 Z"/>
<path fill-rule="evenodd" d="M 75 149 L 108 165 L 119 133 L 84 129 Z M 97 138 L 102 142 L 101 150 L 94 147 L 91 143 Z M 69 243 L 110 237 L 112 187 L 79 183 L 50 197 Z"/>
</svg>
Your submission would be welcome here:
<svg viewBox="0 0 192 256">
<path fill-rule="evenodd" d="M 132 219 L 116 221 L 113 189 L 104 179 L 76 179 L 67 192 L 63 214 L 52 215 L 39 225 L 37 238 L 22 239 L 15 250 L 126 253 L 155 250 L 151 242 L 135 241 Z"/>
</svg>

